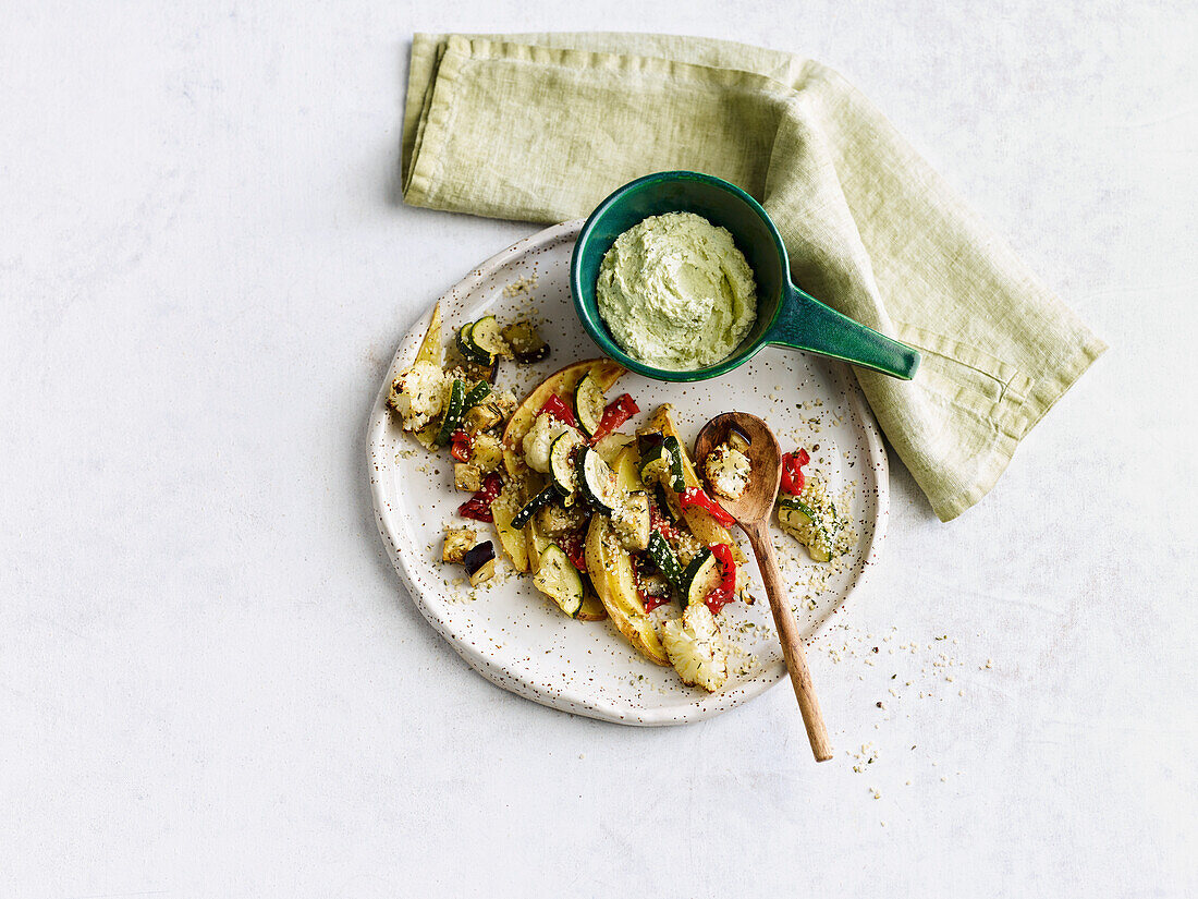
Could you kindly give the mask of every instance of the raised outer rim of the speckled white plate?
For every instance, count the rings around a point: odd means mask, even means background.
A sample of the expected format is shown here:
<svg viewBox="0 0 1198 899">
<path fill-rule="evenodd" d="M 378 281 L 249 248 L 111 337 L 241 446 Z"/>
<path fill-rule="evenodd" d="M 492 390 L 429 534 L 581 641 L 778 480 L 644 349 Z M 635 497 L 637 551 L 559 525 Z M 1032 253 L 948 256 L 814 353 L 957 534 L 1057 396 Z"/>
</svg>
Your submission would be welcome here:
<svg viewBox="0 0 1198 899">
<path fill-rule="evenodd" d="M 507 249 L 496 253 L 482 265 L 472 269 L 470 274 L 452 286 L 440 297 L 437 302 L 449 304 L 454 296 L 461 296 L 477 289 L 498 269 L 502 269 L 516 258 L 531 253 L 532 251 L 540 251 L 559 242 L 573 242 L 581 231 L 583 221 L 585 219 L 579 218 L 551 225 L 543 231 L 538 231 L 530 237 L 525 237 L 524 240 L 513 243 Z M 431 625 L 432 628 L 441 634 L 441 636 L 458 652 L 459 656 L 462 657 L 462 659 L 466 660 L 471 668 L 497 687 L 502 687 L 503 689 L 515 693 L 516 695 L 531 699 L 534 702 L 539 702 L 540 705 L 549 706 L 551 708 L 571 712 L 574 714 L 582 714 L 599 720 L 613 722 L 616 724 L 665 726 L 700 722 L 760 696 L 767 689 L 786 677 L 786 665 L 779 660 L 766 666 L 756 677 L 744 681 L 732 689 L 702 696 L 686 706 L 662 706 L 658 708 L 643 707 L 639 710 L 629 710 L 624 706 L 605 701 L 595 695 L 588 695 L 583 689 L 574 687 L 563 689 L 559 684 L 545 683 L 538 680 L 532 672 L 524 670 L 521 665 L 518 664 L 519 660 L 510 664 L 501 664 L 484 654 L 474 644 L 458 639 L 449 626 L 448 605 L 444 602 L 440 602 L 441 597 L 435 590 L 424 587 L 409 567 L 409 555 L 416 550 L 403 549 L 403 541 L 397 539 L 399 530 L 394 518 L 399 513 L 388 508 L 387 496 L 385 495 L 383 478 L 374 475 L 379 466 L 387 464 L 385 461 L 385 453 L 387 450 L 385 432 L 387 428 L 388 416 L 387 393 L 393 378 L 391 373 L 403 368 L 403 366 L 400 366 L 400 360 L 403 360 L 404 364 L 406 364 L 416 357 L 417 348 L 419 346 L 424 332 L 429 327 L 429 322 L 432 319 L 432 309 L 435 307 L 436 303 L 429 306 L 419 320 L 412 325 L 404 339 L 400 340 L 399 346 L 395 350 L 395 356 L 388 368 L 388 374 L 383 379 L 379 393 L 375 397 L 374 406 L 370 410 L 370 421 L 367 433 L 367 472 L 370 477 L 370 493 L 374 497 L 375 521 L 379 525 L 379 533 L 382 536 L 383 543 L 387 547 L 387 554 L 391 556 L 392 565 L 399 573 L 400 580 L 404 583 L 409 596 L 411 596 L 412 602 L 420 610 L 420 614 L 424 615 L 429 625 Z M 843 363 L 831 362 L 830 360 L 829 364 L 847 368 Z M 822 621 L 818 622 L 816 634 L 818 634 L 818 632 L 827 626 L 831 615 L 845 608 L 848 598 L 861 586 L 866 573 L 871 571 L 873 565 L 877 562 L 878 553 L 885 538 L 885 526 L 890 509 L 890 469 L 887 461 L 885 448 L 882 445 L 882 435 L 878 432 L 872 411 L 865 403 L 860 387 L 857 386 L 857 379 L 849 376 L 848 372 L 845 372 L 843 374 L 846 376 L 842 378 L 842 381 L 846 385 L 849 385 L 847 391 L 849 408 L 852 409 L 857 426 L 861 432 L 870 465 L 873 467 L 877 477 L 876 515 L 873 523 L 873 536 L 863 553 L 860 571 L 858 571 L 857 575 L 849 581 L 841 601 L 836 603 L 831 610 L 829 610 L 828 615 L 825 615 Z M 415 560 L 411 561 L 415 562 Z M 807 638 L 807 642 L 810 641 L 811 638 Z"/>
</svg>

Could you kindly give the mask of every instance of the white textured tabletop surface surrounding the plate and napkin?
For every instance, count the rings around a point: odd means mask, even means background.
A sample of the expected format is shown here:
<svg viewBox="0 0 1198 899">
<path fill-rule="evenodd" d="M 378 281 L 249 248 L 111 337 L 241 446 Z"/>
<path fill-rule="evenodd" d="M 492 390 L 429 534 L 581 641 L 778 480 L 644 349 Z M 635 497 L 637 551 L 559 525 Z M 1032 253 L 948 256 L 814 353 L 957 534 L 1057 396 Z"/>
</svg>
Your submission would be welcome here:
<svg viewBox="0 0 1198 899">
<path fill-rule="evenodd" d="M 534 230 L 398 205 L 407 40 L 582 29 L 840 70 L 1112 344 L 957 521 L 895 472 L 823 766 L 786 687 L 500 692 L 375 531 L 394 344 Z M 1196 44 L 1185 1 L 6 4 L 0 894 L 1194 895 Z"/>
</svg>

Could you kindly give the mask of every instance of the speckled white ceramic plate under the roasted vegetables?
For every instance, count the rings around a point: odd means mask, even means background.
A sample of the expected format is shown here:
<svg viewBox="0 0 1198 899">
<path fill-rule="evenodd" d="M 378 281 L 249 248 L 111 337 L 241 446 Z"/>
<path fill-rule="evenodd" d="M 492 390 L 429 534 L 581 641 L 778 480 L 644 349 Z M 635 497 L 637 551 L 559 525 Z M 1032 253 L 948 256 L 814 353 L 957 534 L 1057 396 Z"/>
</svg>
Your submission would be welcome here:
<svg viewBox="0 0 1198 899">
<path fill-rule="evenodd" d="M 541 322 L 541 334 L 552 348 L 550 358 L 527 369 L 501 363 L 498 385 L 513 387 L 518 397 L 562 366 L 600 355 L 570 302 L 570 253 L 580 227 L 581 221 L 567 222 L 520 241 L 441 297 L 444 336 L 484 313 L 510 321 L 532 312 Z M 400 430 L 386 405 L 388 386 L 411 364 L 431 314 L 430 307 L 400 342 L 379 391 L 369 424 L 369 472 L 379 531 L 395 569 L 449 645 L 504 689 L 553 708 L 623 724 L 700 720 L 781 680 L 786 675 L 782 652 L 755 567 L 757 602 L 733 603 L 720 616 L 721 629 L 734 647 L 734 674 L 722 690 L 708 694 L 684 686 L 673 669 L 640 656 L 611 622 L 565 617 L 530 578 L 506 563 L 490 586 L 477 591 L 470 589 L 459 566 L 441 563 L 444 525 L 467 524 L 456 515 L 466 496 L 453 489 L 448 454 L 426 453 Z M 625 391 L 636 399 L 641 415 L 624 430 L 665 402 L 674 405 L 686 440 L 694 440 L 702 424 L 720 412 L 754 412 L 770 423 L 783 450 L 807 447 L 812 458 L 807 470 L 825 472 L 834 495 L 843 493 L 860 539 L 837 569 L 811 562 L 793 539 L 775 535 L 783 580 L 793 585 L 792 605 L 810 638 L 861 581 L 884 535 L 887 458 L 848 369 L 767 348 L 716 380 L 662 384 L 625 374 L 610 396 Z M 484 539 L 495 539 L 488 525 L 478 527 Z M 748 551 L 748 544 L 743 545 Z M 668 609 L 654 614 L 666 615 Z"/>
</svg>

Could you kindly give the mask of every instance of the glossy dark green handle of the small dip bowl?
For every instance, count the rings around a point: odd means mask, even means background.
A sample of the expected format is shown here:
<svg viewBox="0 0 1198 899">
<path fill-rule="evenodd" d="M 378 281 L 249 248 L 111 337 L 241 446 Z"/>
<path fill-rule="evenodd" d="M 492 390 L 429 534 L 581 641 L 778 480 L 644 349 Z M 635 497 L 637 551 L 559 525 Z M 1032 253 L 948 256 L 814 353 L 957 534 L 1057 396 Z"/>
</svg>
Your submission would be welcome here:
<svg viewBox="0 0 1198 899">
<path fill-rule="evenodd" d="M 841 315 L 789 280 L 783 289 L 787 296 L 767 342 L 831 356 L 891 378 L 909 381 L 915 376 L 919 350 Z"/>
</svg>

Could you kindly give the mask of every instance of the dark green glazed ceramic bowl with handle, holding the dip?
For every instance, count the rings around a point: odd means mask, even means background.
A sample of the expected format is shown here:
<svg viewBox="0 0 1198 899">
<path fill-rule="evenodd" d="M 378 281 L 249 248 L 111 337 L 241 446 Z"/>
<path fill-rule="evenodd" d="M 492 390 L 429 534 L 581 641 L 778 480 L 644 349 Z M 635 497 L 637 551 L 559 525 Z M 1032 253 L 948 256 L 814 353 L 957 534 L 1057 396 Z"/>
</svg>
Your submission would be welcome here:
<svg viewBox="0 0 1198 899">
<path fill-rule="evenodd" d="M 707 368 L 655 368 L 625 354 L 612 339 L 595 302 L 599 264 L 616 237 L 649 216 L 695 212 L 732 233 L 757 282 L 757 321 L 727 358 Z M 647 378 L 701 381 L 748 362 L 766 344 L 789 346 L 910 379 L 919 352 L 830 309 L 791 283 L 789 261 L 766 210 L 736 185 L 697 171 L 659 171 L 631 181 L 591 213 L 570 260 L 570 292 L 582 326 L 607 356 Z"/>
</svg>

